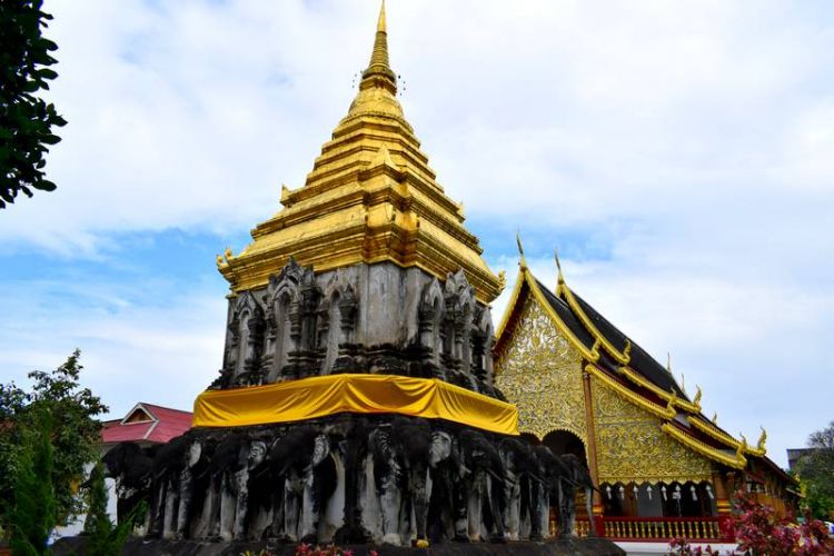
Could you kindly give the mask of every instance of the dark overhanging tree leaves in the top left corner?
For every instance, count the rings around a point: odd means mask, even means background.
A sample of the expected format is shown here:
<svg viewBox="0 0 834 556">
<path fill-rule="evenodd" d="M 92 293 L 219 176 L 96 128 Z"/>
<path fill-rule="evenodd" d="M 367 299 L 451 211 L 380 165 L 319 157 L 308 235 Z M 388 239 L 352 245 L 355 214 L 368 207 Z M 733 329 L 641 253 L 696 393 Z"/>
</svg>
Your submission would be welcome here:
<svg viewBox="0 0 834 556">
<path fill-rule="evenodd" d="M 42 0 L 0 2 L 0 209 L 18 192 L 52 191 L 46 179 L 48 146 L 60 141 L 52 126 L 64 126 L 52 103 L 38 96 L 58 77 L 49 68 L 58 46 L 41 36 L 52 16 Z"/>
</svg>

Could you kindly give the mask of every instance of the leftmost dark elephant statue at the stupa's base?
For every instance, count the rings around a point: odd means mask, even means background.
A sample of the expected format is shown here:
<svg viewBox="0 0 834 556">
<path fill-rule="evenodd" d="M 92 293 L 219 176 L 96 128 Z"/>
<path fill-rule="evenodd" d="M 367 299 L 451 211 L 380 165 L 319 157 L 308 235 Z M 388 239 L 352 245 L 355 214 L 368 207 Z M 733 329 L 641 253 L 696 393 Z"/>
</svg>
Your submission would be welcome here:
<svg viewBox="0 0 834 556">
<path fill-rule="evenodd" d="M 153 458 L 136 443 L 119 443 L 102 463 L 105 476 L 116 480 L 116 518 L 121 523 L 150 494 Z"/>
</svg>

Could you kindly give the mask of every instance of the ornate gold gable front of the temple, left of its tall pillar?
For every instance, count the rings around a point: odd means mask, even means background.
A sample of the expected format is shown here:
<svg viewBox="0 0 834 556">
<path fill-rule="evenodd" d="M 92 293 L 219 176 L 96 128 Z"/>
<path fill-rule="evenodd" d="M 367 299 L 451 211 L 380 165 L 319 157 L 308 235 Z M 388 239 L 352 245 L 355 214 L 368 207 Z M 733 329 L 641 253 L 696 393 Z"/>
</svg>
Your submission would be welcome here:
<svg viewBox="0 0 834 556">
<path fill-rule="evenodd" d="M 587 447 L 582 356 L 532 296 L 512 334 L 496 360 L 495 384 L 518 407 L 519 430 L 539 439 L 567 430 Z"/>
</svg>

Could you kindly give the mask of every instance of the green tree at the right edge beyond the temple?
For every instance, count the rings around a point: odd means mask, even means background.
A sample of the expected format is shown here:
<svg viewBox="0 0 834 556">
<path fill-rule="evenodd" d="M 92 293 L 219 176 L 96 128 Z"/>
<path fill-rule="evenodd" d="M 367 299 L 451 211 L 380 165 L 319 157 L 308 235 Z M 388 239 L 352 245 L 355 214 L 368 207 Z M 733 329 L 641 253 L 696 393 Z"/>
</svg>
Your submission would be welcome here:
<svg viewBox="0 0 834 556">
<path fill-rule="evenodd" d="M 834 515 L 834 420 L 812 434 L 807 447 L 797 467 L 805 490 L 804 504 L 814 517 L 831 519 Z"/>
</svg>

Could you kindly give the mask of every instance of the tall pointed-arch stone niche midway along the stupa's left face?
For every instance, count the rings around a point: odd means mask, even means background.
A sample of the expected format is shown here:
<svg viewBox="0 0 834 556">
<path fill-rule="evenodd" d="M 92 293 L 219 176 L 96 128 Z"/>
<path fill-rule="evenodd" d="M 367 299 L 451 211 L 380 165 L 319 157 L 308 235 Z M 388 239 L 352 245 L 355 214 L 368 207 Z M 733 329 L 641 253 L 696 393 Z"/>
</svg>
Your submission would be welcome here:
<svg viewBox="0 0 834 556">
<path fill-rule="evenodd" d="M 268 383 L 307 376 L 317 366 L 320 297 L 312 268 L 298 265 L 292 257 L 278 275 L 269 278 L 264 296 L 269 311 L 267 348 L 261 359 Z"/>
</svg>

